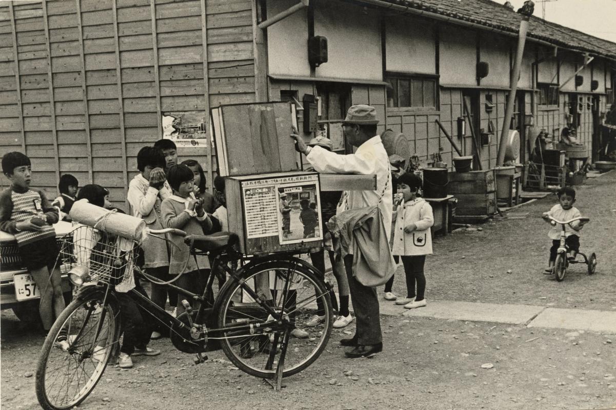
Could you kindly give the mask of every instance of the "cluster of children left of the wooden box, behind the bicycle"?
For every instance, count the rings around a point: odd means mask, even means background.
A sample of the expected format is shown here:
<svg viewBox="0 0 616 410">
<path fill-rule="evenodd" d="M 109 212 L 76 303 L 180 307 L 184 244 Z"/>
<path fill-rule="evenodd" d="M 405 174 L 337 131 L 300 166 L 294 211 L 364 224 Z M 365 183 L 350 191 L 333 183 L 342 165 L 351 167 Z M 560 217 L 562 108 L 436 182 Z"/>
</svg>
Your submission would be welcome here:
<svg viewBox="0 0 616 410">
<path fill-rule="evenodd" d="M 143 147 L 137 153 L 137 169 L 139 174 L 129 183 L 128 202 L 131 214 L 143 219 L 148 228 L 178 228 L 188 234 L 203 235 L 227 227 L 224 180 L 217 177 L 214 180 L 216 196 L 209 193 L 198 161 L 188 159 L 178 164 L 177 148 L 171 140 L 158 140 L 153 147 Z M 70 220 L 71 207 L 79 199 L 116 212 L 123 211 L 111 205 L 106 188 L 89 184 L 79 189 L 78 180 L 69 174 L 60 177 L 60 195 L 50 203 L 42 191 L 30 189 L 31 162 L 23 153 L 4 155 L 2 172 L 10 180 L 11 187 L 0 194 L 0 230 L 15 235 L 20 256 L 41 289 L 39 313 L 43 329 L 48 332 L 65 308 L 60 270 L 56 266 L 59 249 L 52 224 L 61 219 Z M 177 286 L 198 293 L 203 284 L 188 248 L 182 238 L 170 235 L 168 239 L 171 244 L 148 236 L 141 244 L 145 271 L 160 281 L 169 281 L 172 275 L 182 274 Z M 199 260 L 199 268 L 209 269 L 207 258 Z M 164 286 L 152 283 L 151 298 L 161 308 L 169 298 L 177 314 L 182 312 L 177 294 L 166 291 Z M 136 303 L 131 303 L 129 297 L 123 299 L 126 299 L 122 303 L 123 316 L 127 316 L 123 323 L 127 326 L 124 326 L 119 364 L 122 368 L 130 368 L 131 355 L 160 353 L 148 348 L 147 344 L 150 338 L 161 337 L 161 329 L 155 327 L 149 315 L 139 315 Z M 60 334 L 56 342 L 66 348 L 67 336 Z"/>
</svg>

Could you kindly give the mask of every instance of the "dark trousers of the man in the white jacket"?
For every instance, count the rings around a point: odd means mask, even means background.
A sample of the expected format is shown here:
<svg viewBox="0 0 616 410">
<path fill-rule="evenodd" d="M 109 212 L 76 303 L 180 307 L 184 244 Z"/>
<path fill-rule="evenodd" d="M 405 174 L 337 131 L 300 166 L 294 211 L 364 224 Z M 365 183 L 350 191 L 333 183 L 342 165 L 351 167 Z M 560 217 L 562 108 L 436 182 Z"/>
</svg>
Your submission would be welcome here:
<svg viewBox="0 0 616 410">
<path fill-rule="evenodd" d="M 376 288 L 363 286 L 355 279 L 355 276 L 353 276 L 353 255 L 344 257 L 344 269 L 349 279 L 351 303 L 357 321 L 355 325 L 357 343 L 360 345 L 376 345 L 383 342 Z"/>
</svg>

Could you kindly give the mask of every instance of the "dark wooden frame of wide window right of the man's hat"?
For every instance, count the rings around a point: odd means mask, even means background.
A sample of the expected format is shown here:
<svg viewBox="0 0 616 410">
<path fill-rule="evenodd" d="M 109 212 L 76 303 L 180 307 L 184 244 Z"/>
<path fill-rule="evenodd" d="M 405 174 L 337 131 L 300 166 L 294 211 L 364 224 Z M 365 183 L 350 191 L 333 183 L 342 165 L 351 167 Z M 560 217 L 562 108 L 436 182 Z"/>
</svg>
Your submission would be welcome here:
<svg viewBox="0 0 616 410">
<path fill-rule="evenodd" d="M 386 86 L 386 105 L 388 111 L 421 111 L 421 112 L 433 112 L 440 111 L 440 95 L 439 95 L 439 84 L 440 76 L 438 74 L 420 74 L 420 73 L 402 73 L 400 71 L 386 71 L 384 74 L 384 81 L 389 84 Z M 394 105 L 389 105 L 389 93 L 392 90 L 392 81 L 396 81 L 396 98 L 394 100 Z M 400 96 L 400 80 L 408 81 L 408 105 L 400 105 L 401 96 Z M 416 82 L 421 81 L 421 101 L 422 105 L 413 105 L 415 98 L 413 97 L 413 87 Z M 425 83 L 431 81 L 434 84 L 434 94 L 432 97 L 434 98 L 433 106 L 426 106 L 426 86 Z"/>
</svg>

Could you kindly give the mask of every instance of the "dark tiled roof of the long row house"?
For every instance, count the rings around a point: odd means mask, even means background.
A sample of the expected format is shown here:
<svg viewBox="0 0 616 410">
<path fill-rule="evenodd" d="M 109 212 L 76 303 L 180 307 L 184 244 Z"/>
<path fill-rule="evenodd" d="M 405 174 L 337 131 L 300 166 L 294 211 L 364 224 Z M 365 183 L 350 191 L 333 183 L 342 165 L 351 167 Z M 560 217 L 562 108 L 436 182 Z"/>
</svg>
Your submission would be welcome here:
<svg viewBox="0 0 616 410">
<path fill-rule="evenodd" d="M 361 1 L 361 0 L 360 0 Z M 517 33 L 521 15 L 491 0 L 382 0 L 455 20 Z M 505 0 L 501 0 L 503 3 Z M 567 49 L 588 51 L 616 60 L 616 43 L 532 16 L 527 36 Z"/>
</svg>

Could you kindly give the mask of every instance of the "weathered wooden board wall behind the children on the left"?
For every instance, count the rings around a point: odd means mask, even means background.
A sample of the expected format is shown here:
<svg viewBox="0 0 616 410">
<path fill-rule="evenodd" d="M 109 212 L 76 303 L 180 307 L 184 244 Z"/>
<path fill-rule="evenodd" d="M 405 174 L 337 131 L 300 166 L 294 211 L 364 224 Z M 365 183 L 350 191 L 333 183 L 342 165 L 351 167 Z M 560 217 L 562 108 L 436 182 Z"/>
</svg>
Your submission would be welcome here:
<svg viewBox="0 0 616 410">
<path fill-rule="evenodd" d="M 0 3 L 2 153 L 25 151 L 49 196 L 70 173 L 123 204 L 161 113 L 254 98 L 251 0 Z M 210 151 L 179 156 L 208 172 Z"/>
</svg>

